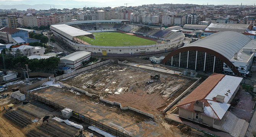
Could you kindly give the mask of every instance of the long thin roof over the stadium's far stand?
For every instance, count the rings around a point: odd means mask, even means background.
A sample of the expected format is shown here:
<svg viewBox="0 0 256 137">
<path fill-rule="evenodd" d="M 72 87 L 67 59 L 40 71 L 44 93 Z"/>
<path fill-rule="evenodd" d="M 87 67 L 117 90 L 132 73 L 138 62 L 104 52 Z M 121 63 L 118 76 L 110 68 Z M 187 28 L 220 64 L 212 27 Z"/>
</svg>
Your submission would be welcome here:
<svg viewBox="0 0 256 137">
<path fill-rule="evenodd" d="M 93 20 L 93 21 L 73 21 L 73 22 L 66 22 L 66 25 L 76 25 L 76 24 L 89 24 L 89 23 L 122 23 L 122 22 L 129 22 L 129 20 L 124 19 L 111 19 L 111 20 Z"/>
</svg>

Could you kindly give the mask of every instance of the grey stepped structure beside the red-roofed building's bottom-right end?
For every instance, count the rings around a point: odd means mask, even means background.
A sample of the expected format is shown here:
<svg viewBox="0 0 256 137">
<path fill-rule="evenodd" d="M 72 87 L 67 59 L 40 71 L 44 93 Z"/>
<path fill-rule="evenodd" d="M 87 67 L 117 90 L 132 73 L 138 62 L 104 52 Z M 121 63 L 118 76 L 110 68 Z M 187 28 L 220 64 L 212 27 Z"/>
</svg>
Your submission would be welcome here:
<svg viewBox="0 0 256 137">
<path fill-rule="evenodd" d="M 228 118 L 225 120 L 225 123 L 222 125 L 222 128 L 224 129 L 224 131 L 231 133 L 233 131 L 233 128 L 237 124 L 238 118 L 231 112 L 227 113 L 229 113 L 229 115 Z"/>
</svg>

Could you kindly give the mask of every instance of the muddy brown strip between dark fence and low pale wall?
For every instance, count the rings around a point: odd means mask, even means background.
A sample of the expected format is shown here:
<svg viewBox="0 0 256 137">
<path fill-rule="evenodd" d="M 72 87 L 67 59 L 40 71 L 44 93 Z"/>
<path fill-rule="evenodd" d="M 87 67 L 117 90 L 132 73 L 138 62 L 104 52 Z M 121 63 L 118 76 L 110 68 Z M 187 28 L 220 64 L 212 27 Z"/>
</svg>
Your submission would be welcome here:
<svg viewBox="0 0 256 137">
<path fill-rule="evenodd" d="M 74 111 L 96 119 L 104 124 L 112 122 L 133 133 L 134 137 L 180 137 L 179 130 L 165 123 L 163 116 L 156 114 L 152 120 L 130 110 L 104 104 L 99 99 L 89 98 L 84 94 L 76 95 L 74 91 L 54 86 L 38 89 L 32 93 L 47 100 L 72 108 Z M 175 132 L 174 132 L 175 131 Z"/>
</svg>

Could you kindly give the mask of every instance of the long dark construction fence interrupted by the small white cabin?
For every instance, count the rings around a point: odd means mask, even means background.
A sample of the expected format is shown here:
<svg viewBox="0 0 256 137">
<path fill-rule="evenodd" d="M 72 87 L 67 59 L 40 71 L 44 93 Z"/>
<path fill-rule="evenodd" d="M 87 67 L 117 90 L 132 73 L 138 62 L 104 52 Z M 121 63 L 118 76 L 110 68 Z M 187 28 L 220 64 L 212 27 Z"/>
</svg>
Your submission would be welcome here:
<svg viewBox="0 0 256 137">
<path fill-rule="evenodd" d="M 50 101 L 50 100 L 47 100 L 47 99 L 42 98 L 42 97 L 40 97 L 40 96 L 37 96 L 37 95 L 35 95 L 35 94 L 31 93 L 31 92 L 26 92 L 25 90 L 21 90 L 20 92 L 23 93 L 23 94 L 26 94 L 26 95 L 29 96 L 29 97 L 32 97 L 33 99 L 36 99 L 37 101 L 39 101 L 39 102 L 41 102 L 41 103 L 43 103 L 43 104 L 45 104 L 45 105 L 54 107 L 54 108 L 56 108 L 56 109 L 58 109 L 58 110 L 63 110 L 64 108 L 66 108 L 66 107 L 64 107 L 63 105 L 54 103 L 54 102 L 52 102 L 52 101 Z M 92 119 L 92 118 L 89 118 L 89 117 L 87 117 L 87 116 L 84 116 L 84 115 L 82 115 L 82 114 L 80 114 L 80 113 L 78 113 L 78 112 L 73 111 L 73 116 L 74 116 L 75 118 L 81 119 L 81 120 L 83 120 L 83 121 L 85 121 L 85 122 L 87 122 L 87 123 L 89 123 L 89 124 L 92 124 L 92 125 L 94 125 L 94 126 L 100 128 L 100 129 L 102 129 L 102 130 L 104 130 L 104 131 L 106 131 L 106 132 L 109 132 L 109 133 L 111 133 L 111 134 L 113 134 L 113 135 L 116 135 L 116 136 L 118 136 L 118 137 L 132 137 L 131 135 L 125 134 L 125 133 L 122 132 L 122 131 L 118 131 L 118 130 L 115 129 L 115 128 L 112 128 L 112 127 L 110 127 L 110 126 L 108 126 L 108 125 L 105 125 L 105 124 L 99 122 L 99 121 L 96 121 L 96 120 L 94 120 L 94 119 Z"/>
</svg>

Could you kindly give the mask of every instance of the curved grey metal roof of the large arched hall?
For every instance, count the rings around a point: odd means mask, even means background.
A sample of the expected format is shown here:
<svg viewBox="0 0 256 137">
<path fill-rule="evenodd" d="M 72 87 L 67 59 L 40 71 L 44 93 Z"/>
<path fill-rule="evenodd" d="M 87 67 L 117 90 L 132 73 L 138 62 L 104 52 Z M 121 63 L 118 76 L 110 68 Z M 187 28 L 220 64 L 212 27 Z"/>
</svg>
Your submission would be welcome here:
<svg viewBox="0 0 256 137">
<path fill-rule="evenodd" d="M 182 48 L 196 46 L 211 49 L 227 59 L 232 59 L 235 53 L 240 51 L 251 38 L 238 32 L 224 31 L 214 33 L 206 38 L 193 42 Z"/>
</svg>

